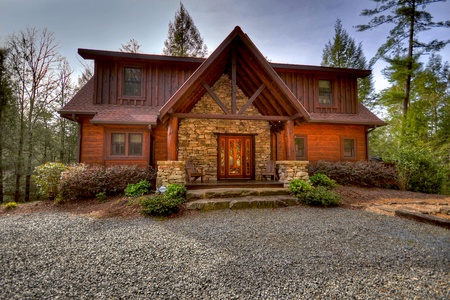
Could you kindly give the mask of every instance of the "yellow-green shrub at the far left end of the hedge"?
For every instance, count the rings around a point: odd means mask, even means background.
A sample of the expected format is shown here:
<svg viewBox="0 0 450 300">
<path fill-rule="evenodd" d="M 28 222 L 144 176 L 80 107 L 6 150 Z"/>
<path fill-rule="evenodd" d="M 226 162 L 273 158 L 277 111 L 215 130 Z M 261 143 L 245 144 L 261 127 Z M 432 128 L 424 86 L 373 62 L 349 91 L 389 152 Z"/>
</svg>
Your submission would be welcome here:
<svg viewBox="0 0 450 300">
<path fill-rule="evenodd" d="M 62 163 L 48 162 L 34 169 L 33 179 L 39 194 L 46 199 L 54 199 L 59 193 L 61 173 L 67 169 Z"/>
</svg>

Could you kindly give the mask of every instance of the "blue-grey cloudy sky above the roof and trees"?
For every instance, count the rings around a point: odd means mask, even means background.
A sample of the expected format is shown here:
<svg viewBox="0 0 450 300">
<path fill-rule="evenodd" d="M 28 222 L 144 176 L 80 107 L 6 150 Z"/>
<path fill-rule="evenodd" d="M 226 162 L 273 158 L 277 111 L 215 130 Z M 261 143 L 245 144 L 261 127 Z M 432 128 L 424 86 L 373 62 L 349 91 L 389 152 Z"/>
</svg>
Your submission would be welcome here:
<svg viewBox="0 0 450 300">
<path fill-rule="evenodd" d="M 322 51 L 334 37 L 336 20 L 356 43 L 362 42 L 370 60 L 389 35 L 389 26 L 357 32 L 367 24 L 360 16 L 373 9 L 371 0 L 183 0 L 204 43 L 212 53 L 235 26 L 274 63 L 320 65 Z M 162 54 L 168 24 L 179 10 L 179 0 L 0 0 L 0 45 L 6 37 L 27 27 L 47 28 L 55 35 L 60 53 L 75 74 L 83 66 L 78 48 L 118 51 L 134 38 L 141 52 Z M 427 7 L 434 21 L 450 18 L 450 2 Z M 449 39 L 450 29 L 433 29 L 424 40 Z M 450 45 L 440 54 L 450 61 Z M 423 58 L 427 60 L 426 57 Z M 388 86 L 379 61 L 374 69 L 375 89 Z"/>
</svg>

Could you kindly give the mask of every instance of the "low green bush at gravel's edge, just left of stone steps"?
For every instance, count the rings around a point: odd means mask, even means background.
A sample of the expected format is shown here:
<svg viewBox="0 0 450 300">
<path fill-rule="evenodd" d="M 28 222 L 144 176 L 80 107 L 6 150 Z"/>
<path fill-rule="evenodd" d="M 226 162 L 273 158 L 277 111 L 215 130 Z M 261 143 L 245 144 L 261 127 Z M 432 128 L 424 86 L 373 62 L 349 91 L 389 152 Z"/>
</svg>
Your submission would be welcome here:
<svg viewBox="0 0 450 300">
<path fill-rule="evenodd" d="M 184 202 L 183 198 L 170 198 L 165 194 L 159 194 L 154 197 L 143 197 L 140 199 L 142 212 L 152 216 L 169 216 L 180 210 L 180 205 Z"/>
</svg>

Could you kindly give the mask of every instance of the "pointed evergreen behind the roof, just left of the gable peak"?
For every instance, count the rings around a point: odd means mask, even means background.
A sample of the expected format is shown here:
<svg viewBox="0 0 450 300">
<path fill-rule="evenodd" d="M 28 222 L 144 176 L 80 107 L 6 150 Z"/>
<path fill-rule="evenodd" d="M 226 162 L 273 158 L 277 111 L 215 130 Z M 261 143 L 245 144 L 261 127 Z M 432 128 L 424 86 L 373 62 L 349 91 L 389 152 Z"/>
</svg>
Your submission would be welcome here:
<svg viewBox="0 0 450 300">
<path fill-rule="evenodd" d="M 164 41 L 163 54 L 193 57 L 208 55 L 208 48 L 203 44 L 200 32 L 181 2 L 174 22 L 169 22 L 169 32 Z"/>
</svg>

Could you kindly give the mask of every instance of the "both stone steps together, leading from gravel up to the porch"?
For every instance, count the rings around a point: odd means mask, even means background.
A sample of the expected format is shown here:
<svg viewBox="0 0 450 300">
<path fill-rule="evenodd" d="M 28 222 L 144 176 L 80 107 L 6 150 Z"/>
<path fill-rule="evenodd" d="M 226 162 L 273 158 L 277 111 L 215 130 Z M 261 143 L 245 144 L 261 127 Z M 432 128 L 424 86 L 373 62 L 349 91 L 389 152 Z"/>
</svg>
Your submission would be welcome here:
<svg viewBox="0 0 450 300">
<path fill-rule="evenodd" d="M 186 208 L 191 210 L 219 210 L 244 208 L 276 208 L 297 205 L 287 188 L 217 188 L 191 190 L 187 193 Z"/>
</svg>

